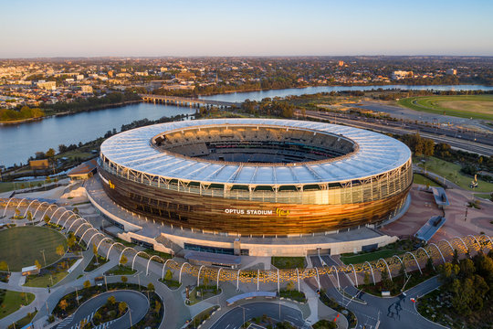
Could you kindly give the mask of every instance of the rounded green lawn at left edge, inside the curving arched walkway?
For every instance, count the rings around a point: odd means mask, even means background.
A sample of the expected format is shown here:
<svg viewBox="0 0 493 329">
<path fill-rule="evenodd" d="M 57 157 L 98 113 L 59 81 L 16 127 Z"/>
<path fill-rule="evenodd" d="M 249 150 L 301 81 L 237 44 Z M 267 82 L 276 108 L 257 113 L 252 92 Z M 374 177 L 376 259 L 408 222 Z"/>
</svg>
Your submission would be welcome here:
<svg viewBox="0 0 493 329">
<path fill-rule="evenodd" d="M 10 271 L 21 271 L 32 266 L 35 260 L 45 266 L 60 259 L 56 249 L 63 245 L 67 249 L 67 239 L 63 234 L 51 228 L 20 227 L 8 228 L 0 232 L 0 261 L 5 260 Z"/>
</svg>

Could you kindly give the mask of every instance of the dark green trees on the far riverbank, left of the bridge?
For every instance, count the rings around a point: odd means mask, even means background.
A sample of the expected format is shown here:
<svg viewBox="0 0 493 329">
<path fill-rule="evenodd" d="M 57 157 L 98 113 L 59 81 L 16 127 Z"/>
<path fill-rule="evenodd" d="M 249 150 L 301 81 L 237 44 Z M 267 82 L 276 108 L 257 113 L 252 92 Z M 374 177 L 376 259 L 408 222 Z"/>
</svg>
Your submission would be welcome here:
<svg viewBox="0 0 493 329">
<path fill-rule="evenodd" d="M 79 112 L 96 110 L 111 104 L 119 104 L 125 101 L 139 101 L 141 97 L 137 92 L 126 90 L 125 92 L 111 92 L 104 97 L 89 97 L 86 100 L 72 102 L 58 102 L 47 105 L 49 111 L 59 112 Z"/>
</svg>

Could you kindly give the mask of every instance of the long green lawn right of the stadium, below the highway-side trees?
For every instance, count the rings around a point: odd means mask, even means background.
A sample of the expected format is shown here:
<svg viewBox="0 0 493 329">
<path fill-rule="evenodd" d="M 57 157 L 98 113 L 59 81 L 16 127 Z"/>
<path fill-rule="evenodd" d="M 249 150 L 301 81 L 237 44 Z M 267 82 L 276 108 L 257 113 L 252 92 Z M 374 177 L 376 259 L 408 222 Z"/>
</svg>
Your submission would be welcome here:
<svg viewBox="0 0 493 329">
<path fill-rule="evenodd" d="M 425 164 L 420 162 L 418 165 L 427 171 L 435 173 L 436 175 L 446 177 L 446 179 L 456 183 L 456 185 L 467 189 L 468 191 L 484 193 L 493 191 L 493 184 L 479 179 L 477 180 L 477 188 L 470 188 L 469 184 L 471 184 L 473 177 L 461 174 L 461 166 L 459 164 L 453 164 L 431 156 L 428 160 L 426 160 Z"/>
</svg>

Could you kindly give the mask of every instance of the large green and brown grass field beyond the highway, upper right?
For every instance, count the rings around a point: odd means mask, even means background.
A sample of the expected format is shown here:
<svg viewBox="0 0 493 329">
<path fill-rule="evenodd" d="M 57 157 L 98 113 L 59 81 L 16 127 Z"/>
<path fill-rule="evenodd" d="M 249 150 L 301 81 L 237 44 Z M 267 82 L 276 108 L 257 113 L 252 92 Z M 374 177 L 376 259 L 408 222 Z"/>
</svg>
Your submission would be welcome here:
<svg viewBox="0 0 493 329">
<path fill-rule="evenodd" d="M 493 96 L 491 95 L 410 97 L 399 100 L 397 103 L 415 111 L 493 120 Z"/>
</svg>

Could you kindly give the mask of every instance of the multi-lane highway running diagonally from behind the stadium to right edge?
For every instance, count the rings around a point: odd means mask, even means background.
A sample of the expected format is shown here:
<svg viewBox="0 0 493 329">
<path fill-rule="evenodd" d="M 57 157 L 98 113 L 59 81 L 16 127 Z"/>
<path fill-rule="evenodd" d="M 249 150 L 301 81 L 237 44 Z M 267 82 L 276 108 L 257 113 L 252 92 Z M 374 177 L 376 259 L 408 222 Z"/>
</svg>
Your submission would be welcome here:
<svg viewBox="0 0 493 329">
<path fill-rule="evenodd" d="M 380 133 L 394 133 L 394 134 L 414 134 L 416 133 L 416 129 L 410 129 L 406 127 L 405 124 L 402 126 L 394 126 L 389 124 L 389 122 L 385 122 L 383 120 L 378 122 L 369 122 L 363 121 L 360 119 L 348 119 L 340 116 L 334 116 L 333 113 L 328 112 L 319 112 L 319 111 L 307 111 L 307 117 L 317 120 L 328 120 L 330 122 L 343 123 L 352 127 L 362 128 L 362 129 L 370 129 Z M 435 133 L 426 133 L 423 131 L 419 131 L 420 135 L 425 138 L 429 138 L 435 141 L 435 143 L 448 143 L 452 148 L 474 152 L 481 155 L 491 156 L 493 155 L 493 146 L 484 144 L 466 141 L 463 139 L 450 137 L 446 135 L 440 135 Z"/>
</svg>

